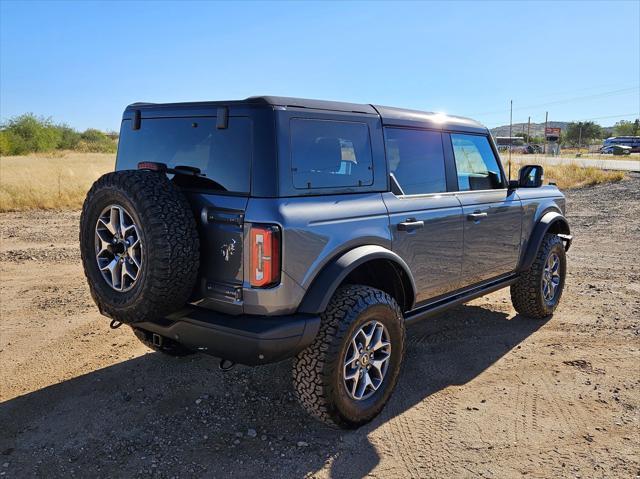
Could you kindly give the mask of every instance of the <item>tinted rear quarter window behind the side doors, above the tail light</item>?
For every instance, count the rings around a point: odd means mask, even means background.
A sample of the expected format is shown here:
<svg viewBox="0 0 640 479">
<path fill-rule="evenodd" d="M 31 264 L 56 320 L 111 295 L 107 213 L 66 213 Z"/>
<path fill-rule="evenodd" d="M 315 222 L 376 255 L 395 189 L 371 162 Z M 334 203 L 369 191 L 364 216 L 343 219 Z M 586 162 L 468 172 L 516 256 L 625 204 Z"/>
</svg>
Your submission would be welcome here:
<svg viewBox="0 0 640 479">
<path fill-rule="evenodd" d="M 366 123 L 291 120 L 291 168 L 295 188 L 367 186 L 373 183 Z"/>
</svg>

